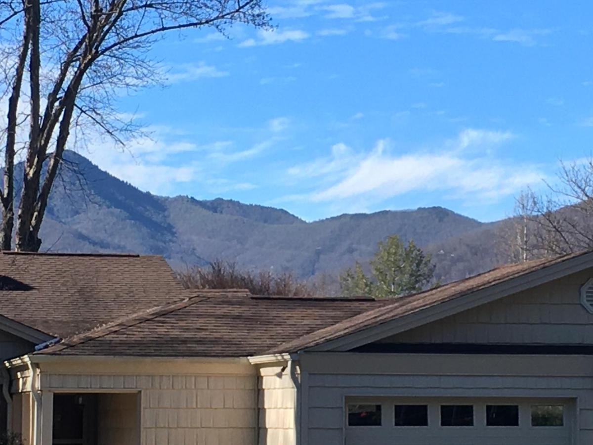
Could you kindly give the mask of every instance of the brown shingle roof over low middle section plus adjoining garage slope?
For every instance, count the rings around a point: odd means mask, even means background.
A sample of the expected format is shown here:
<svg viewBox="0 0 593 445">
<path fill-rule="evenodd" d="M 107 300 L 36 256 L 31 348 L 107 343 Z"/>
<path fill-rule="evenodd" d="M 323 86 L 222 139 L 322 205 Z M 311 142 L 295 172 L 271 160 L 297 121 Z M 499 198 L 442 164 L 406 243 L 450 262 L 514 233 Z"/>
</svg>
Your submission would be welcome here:
<svg viewBox="0 0 593 445">
<path fill-rule="evenodd" d="M 190 298 L 66 339 L 39 354 L 245 357 L 296 352 L 580 255 L 502 266 L 397 300 L 253 297 L 237 290 L 197 291 Z"/>
</svg>

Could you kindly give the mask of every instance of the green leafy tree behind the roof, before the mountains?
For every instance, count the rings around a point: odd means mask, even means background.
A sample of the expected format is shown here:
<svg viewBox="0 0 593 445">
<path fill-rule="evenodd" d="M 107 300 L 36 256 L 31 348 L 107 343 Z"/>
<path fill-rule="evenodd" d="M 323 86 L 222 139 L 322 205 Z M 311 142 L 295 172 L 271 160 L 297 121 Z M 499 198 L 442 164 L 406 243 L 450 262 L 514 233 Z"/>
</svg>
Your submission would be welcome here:
<svg viewBox="0 0 593 445">
<path fill-rule="evenodd" d="M 377 246 L 371 260 L 372 278 L 366 276 L 357 262 L 355 268 L 340 275 L 345 295 L 372 295 L 393 298 L 408 295 L 428 285 L 435 272 L 431 256 L 425 255 L 414 241 L 404 244 L 397 235 L 388 237 Z"/>
</svg>

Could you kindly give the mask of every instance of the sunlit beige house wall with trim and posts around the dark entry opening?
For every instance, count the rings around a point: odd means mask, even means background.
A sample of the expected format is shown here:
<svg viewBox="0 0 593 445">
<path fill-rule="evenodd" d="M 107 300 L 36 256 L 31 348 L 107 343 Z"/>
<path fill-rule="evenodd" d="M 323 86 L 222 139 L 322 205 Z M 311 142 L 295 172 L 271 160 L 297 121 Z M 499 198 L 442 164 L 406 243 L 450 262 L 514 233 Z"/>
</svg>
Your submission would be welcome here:
<svg viewBox="0 0 593 445">
<path fill-rule="evenodd" d="M 101 396 L 139 393 L 142 445 L 256 444 L 257 376 L 247 361 L 199 363 L 186 359 L 161 363 L 150 359 L 104 359 L 72 364 L 64 360 L 61 364 L 42 363 L 39 368 L 43 400 L 51 400 L 49 395 L 56 392 Z M 26 370 L 13 373 L 13 390 L 21 393 L 23 400 L 31 399 L 28 374 Z M 48 406 L 42 406 L 41 411 L 50 417 Z M 23 425 L 31 422 L 32 412 L 29 403 L 23 404 Z M 110 418 L 117 415 L 113 411 L 107 414 Z M 43 419 L 42 425 L 42 445 L 51 445 L 51 422 Z M 112 427 L 123 425 L 118 421 Z M 23 434 L 25 445 L 30 445 L 30 433 Z M 133 443 L 126 441 L 126 445 Z"/>
</svg>

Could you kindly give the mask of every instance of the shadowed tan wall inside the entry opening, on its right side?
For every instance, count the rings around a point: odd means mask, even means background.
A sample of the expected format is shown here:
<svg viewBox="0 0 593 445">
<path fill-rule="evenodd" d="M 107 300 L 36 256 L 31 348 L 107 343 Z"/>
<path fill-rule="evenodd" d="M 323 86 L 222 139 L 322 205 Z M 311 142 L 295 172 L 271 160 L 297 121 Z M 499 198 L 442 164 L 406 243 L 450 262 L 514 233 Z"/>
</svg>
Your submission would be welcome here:
<svg viewBox="0 0 593 445">
<path fill-rule="evenodd" d="M 98 445 L 139 443 L 139 402 L 139 393 L 99 395 Z"/>
</svg>

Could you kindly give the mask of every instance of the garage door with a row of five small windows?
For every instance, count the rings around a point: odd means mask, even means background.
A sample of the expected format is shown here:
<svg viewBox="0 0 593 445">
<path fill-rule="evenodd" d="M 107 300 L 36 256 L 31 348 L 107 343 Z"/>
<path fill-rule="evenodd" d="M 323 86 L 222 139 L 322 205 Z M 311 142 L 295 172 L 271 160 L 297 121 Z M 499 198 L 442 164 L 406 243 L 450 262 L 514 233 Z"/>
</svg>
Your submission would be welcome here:
<svg viewBox="0 0 593 445">
<path fill-rule="evenodd" d="M 347 398 L 346 445 L 570 445 L 566 399 Z"/>
</svg>

